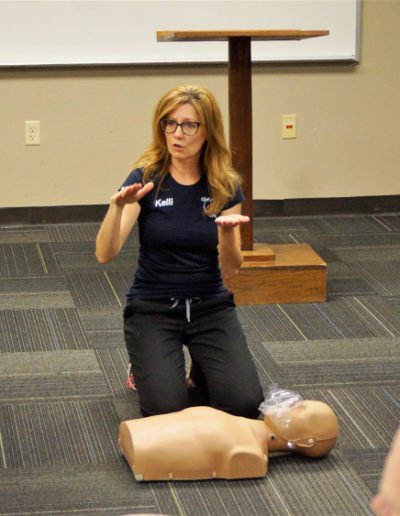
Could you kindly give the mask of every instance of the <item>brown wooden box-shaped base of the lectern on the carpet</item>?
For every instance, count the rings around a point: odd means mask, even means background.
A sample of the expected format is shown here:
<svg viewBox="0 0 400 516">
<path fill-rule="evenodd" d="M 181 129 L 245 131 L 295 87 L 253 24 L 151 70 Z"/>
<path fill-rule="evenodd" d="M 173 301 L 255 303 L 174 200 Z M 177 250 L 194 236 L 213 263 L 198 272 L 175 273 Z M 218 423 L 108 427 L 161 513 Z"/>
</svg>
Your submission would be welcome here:
<svg viewBox="0 0 400 516">
<path fill-rule="evenodd" d="M 237 305 L 326 301 L 327 264 L 308 244 L 255 244 L 243 257 L 225 283 Z"/>
</svg>

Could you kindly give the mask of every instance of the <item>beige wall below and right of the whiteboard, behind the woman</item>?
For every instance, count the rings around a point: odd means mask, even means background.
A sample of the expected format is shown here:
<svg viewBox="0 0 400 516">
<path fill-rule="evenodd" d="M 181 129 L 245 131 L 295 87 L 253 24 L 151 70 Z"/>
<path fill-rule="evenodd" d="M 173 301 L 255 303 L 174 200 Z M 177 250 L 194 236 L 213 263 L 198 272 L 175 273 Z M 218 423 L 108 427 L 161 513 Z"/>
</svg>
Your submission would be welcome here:
<svg viewBox="0 0 400 516">
<path fill-rule="evenodd" d="M 363 0 L 360 64 L 254 66 L 255 199 L 400 193 L 399 21 L 400 0 Z M 0 69 L 0 207 L 108 202 L 155 102 L 187 82 L 213 90 L 227 121 L 221 65 Z M 296 140 L 281 139 L 283 113 Z M 24 146 L 24 120 L 40 120 L 39 147 Z"/>
</svg>

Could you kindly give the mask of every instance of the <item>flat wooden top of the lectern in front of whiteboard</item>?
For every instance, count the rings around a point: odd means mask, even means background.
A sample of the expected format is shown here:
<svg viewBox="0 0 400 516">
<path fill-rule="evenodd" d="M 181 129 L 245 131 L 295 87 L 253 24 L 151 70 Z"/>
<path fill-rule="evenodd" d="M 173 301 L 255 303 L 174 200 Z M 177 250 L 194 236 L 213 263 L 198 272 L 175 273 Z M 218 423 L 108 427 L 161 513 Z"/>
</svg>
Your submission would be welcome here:
<svg viewBox="0 0 400 516">
<path fill-rule="evenodd" d="M 299 40 L 328 34 L 329 30 L 159 30 L 157 41 L 227 41 L 240 37 L 261 41 Z"/>
</svg>

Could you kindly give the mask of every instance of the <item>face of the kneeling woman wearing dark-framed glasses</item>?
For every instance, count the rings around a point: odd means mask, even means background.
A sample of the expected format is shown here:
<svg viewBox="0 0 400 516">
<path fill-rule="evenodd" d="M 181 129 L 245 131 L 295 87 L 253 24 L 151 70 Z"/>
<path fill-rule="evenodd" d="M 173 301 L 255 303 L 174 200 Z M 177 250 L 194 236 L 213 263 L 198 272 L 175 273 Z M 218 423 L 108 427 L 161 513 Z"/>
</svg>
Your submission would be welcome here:
<svg viewBox="0 0 400 516">
<path fill-rule="evenodd" d="M 178 122 L 178 124 L 200 122 L 199 115 L 192 104 L 181 104 L 168 113 L 167 118 Z M 203 126 L 200 125 L 198 132 L 193 136 L 185 134 L 181 126 L 178 126 L 173 133 L 164 134 L 172 161 L 200 161 L 201 149 L 206 141 Z"/>
</svg>

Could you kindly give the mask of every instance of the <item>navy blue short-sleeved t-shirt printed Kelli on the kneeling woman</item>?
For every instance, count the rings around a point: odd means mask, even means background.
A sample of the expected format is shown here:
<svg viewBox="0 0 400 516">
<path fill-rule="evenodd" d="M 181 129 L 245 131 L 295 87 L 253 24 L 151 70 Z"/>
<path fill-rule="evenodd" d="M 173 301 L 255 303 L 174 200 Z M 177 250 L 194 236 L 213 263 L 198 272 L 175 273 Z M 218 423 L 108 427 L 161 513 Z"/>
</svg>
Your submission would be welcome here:
<svg viewBox="0 0 400 516">
<path fill-rule="evenodd" d="M 142 183 L 142 169 L 122 186 Z M 128 303 L 135 297 L 171 298 L 217 295 L 226 291 L 218 263 L 218 226 L 204 215 L 212 201 L 207 179 L 193 185 L 177 183 L 168 174 L 157 198 L 154 185 L 140 201 L 139 259 Z M 240 187 L 224 209 L 243 202 Z"/>
</svg>

